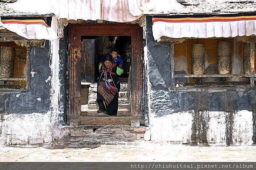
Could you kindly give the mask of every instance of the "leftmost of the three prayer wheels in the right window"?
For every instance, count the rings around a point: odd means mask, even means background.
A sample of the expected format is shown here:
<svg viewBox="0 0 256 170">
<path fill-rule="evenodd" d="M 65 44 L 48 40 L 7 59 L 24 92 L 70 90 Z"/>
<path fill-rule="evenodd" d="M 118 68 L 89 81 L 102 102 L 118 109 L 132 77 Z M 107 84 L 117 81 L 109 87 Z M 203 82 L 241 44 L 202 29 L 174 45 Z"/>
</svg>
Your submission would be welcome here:
<svg viewBox="0 0 256 170">
<path fill-rule="evenodd" d="M 191 72 L 204 74 L 204 44 L 191 45 Z"/>
</svg>

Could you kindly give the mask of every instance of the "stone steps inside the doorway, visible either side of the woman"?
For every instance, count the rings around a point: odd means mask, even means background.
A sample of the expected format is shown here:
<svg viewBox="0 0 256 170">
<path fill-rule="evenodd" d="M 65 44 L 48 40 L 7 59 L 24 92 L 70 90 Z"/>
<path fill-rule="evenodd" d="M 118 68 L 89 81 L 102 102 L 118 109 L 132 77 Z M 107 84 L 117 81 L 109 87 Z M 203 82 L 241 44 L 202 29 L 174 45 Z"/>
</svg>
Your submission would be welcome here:
<svg viewBox="0 0 256 170">
<path fill-rule="evenodd" d="M 88 97 L 88 109 L 87 111 L 98 109 L 96 105 L 97 99 L 97 83 L 91 84 L 89 88 L 89 97 Z M 121 88 L 119 92 L 119 102 L 118 109 L 128 110 L 128 99 L 127 99 L 127 82 L 121 82 Z"/>
</svg>

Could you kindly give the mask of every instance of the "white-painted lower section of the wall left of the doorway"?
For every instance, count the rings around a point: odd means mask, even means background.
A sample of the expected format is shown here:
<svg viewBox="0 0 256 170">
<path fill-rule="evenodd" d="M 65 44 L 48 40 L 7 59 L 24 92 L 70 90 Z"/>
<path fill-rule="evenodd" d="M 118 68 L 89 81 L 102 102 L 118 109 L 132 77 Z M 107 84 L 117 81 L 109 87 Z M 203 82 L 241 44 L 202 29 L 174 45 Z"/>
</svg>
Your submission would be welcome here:
<svg viewBox="0 0 256 170">
<path fill-rule="evenodd" d="M 51 115 L 50 111 L 4 115 L 0 145 L 51 142 Z"/>
</svg>

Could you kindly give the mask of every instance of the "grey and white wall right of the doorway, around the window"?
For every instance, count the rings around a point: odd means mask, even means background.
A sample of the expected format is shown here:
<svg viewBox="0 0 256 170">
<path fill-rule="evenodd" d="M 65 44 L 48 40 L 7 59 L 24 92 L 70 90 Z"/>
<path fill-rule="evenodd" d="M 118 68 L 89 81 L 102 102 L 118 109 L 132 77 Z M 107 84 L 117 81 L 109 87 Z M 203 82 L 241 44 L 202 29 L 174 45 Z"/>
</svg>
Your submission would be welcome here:
<svg viewBox="0 0 256 170">
<path fill-rule="evenodd" d="M 190 144 L 256 143 L 256 91 L 174 87 L 174 43 L 156 42 L 146 16 L 145 115 L 152 141 Z"/>
</svg>

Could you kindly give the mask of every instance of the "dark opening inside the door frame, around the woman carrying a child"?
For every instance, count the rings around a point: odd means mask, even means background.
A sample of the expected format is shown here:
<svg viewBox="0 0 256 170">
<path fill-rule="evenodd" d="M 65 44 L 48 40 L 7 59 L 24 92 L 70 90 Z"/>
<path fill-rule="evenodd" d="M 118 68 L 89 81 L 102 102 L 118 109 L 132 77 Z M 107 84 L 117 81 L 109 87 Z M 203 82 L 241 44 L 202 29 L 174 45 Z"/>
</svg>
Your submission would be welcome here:
<svg viewBox="0 0 256 170">
<path fill-rule="evenodd" d="M 102 58 L 110 53 L 111 48 L 106 48 L 113 42 L 115 36 L 81 36 L 81 114 L 90 116 L 106 116 L 97 113 L 96 83 L 99 77 L 99 63 Z M 130 116 L 128 99 L 128 78 L 131 67 L 131 36 L 118 36 L 115 48 L 123 59 L 120 75 L 121 89 L 119 92 L 119 110 L 117 116 Z"/>
</svg>

